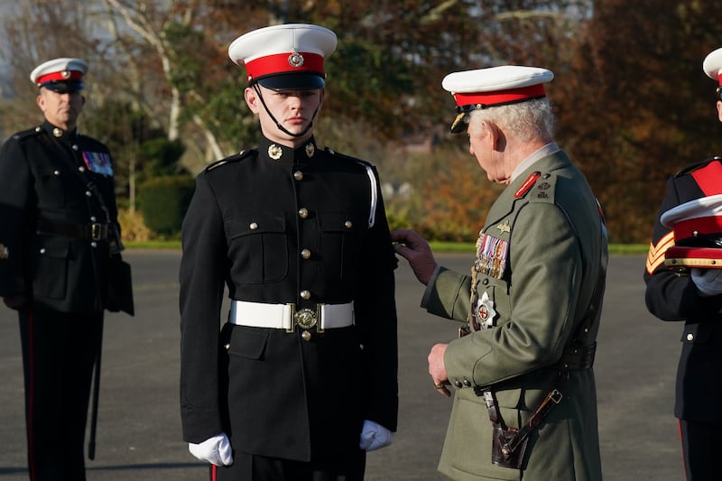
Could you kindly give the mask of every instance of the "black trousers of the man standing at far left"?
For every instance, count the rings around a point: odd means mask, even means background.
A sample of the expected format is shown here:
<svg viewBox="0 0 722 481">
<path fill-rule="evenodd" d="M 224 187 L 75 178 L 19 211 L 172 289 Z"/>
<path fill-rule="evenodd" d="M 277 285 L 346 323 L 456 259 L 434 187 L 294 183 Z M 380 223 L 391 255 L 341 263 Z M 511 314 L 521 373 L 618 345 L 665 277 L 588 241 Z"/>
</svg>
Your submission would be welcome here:
<svg viewBox="0 0 722 481">
<path fill-rule="evenodd" d="M 32 481 L 84 481 L 84 441 L 103 313 L 19 311 Z"/>
</svg>

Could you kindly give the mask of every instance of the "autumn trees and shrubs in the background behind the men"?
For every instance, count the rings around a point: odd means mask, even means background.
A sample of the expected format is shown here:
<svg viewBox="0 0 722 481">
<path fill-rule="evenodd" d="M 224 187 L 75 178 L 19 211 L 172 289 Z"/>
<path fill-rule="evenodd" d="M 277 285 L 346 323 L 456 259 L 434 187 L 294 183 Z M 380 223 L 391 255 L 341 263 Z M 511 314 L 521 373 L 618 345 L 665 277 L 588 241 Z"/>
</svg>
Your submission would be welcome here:
<svg viewBox="0 0 722 481">
<path fill-rule="evenodd" d="M 255 145 L 229 42 L 267 24 L 319 23 L 338 34 L 319 140 L 378 166 L 394 226 L 477 236 L 502 186 L 465 135 L 448 134 L 453 102 L 440 82 L 512 63 L 554 71 L 556 141 L 601 200 L 611 241 L 646 243 L 666 178 L 722 154 L 716 84 L 701 69 L 722 46 L 720 11 L 719 0 L 17 0 L 0 15 L 0 134 L 39 122 L 35 65 L 87 59 L 81 128 L 109 144 L 121 203 L 133 205 L 159 135 L 182 143 L 178 172 Z"/>
</svg>

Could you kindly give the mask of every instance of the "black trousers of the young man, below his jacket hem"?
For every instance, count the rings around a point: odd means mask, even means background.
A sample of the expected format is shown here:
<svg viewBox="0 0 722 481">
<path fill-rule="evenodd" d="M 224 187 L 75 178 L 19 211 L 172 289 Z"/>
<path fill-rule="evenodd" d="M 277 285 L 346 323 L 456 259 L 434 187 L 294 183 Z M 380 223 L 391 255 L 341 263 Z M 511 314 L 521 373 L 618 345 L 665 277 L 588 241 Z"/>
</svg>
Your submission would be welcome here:
<svg viewBox="0 0 722 481">
<path fill-rule="evenodd" d="M 266 458 L 234 451 L 233 465 L 210 465 L 210 481 L 362 481 L 366 451 L 310 462 Z"/>
</svg>

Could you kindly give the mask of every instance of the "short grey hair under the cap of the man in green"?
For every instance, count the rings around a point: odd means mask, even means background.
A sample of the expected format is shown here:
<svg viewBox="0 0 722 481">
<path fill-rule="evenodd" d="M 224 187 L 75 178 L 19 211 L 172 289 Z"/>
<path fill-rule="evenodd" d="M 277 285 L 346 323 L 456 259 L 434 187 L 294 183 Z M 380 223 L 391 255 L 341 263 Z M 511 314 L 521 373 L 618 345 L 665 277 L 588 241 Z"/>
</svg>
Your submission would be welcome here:
<svg viewBox="0 0 722 481">
<path fill-rule="evenodd" d="M 554 134 L 554 114 L 547 97 L 472 110 L 469 113 L 469 123 L 474 134 L 481 133 L 483 122 L 498 125 L 522 142 L 533 139 L 551 142 Z"/>
</svg>

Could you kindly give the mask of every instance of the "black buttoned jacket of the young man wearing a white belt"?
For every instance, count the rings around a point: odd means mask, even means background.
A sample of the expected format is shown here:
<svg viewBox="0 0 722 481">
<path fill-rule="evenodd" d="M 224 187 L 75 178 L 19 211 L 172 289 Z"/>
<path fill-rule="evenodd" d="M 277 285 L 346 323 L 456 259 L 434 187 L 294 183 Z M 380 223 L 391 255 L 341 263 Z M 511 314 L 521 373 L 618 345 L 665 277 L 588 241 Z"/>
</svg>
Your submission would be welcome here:
<svg viewBox="0 0 722 481">
<path fill-rule="evenodd" d="M 366 162 L 263 139 L 199 174 L 183 223 L 180 404 L 184 439 L 309 460 L 358 449 L 364 420 L 396 430 L 393 254 Z M 227 325 L 232 300 L 353 301 L 356 325 L 288 333 Z M 220 353 L 220 356 L 219 356 Z"/>
</svg>

